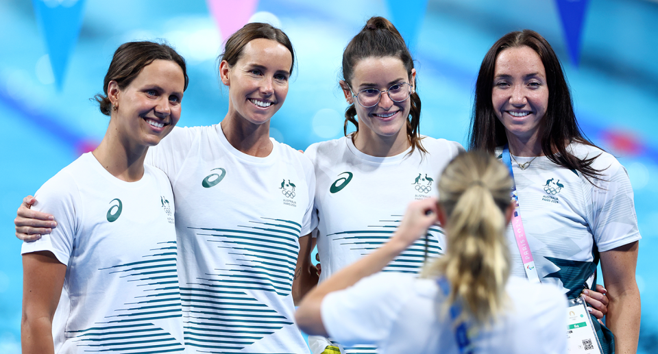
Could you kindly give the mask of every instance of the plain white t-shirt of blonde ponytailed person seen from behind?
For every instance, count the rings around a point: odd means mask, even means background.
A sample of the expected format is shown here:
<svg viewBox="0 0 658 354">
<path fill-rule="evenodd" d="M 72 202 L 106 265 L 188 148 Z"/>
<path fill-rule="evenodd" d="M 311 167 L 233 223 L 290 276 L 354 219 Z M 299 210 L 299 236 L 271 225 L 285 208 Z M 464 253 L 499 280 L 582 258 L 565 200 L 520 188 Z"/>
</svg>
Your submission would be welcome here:
<svg viewBox="0 0 658 354">
<path fill-rule="evenodd" d="M 476 353 L 555 353 L 566 350 L 567 301 L 552 284 L 510 277 L 507 311 L 471 342 Z M 380 353 L 459 353 L 450 314 L 440 316 L 446 296 L 435 279 L 378 273 L 327 294 L 321 304 L 325 329 L 341 343 L 376 344 Z"/>
</svg>

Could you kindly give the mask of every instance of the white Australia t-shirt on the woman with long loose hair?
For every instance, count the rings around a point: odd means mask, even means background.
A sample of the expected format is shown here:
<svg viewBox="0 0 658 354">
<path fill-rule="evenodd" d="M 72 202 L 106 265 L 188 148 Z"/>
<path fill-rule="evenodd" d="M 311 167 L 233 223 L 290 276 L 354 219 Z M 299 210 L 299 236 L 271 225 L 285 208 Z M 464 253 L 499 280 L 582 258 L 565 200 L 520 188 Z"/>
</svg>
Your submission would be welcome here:
<svg viewBox="0 0 658 354">
<path fill-rule="evenodd" d="M 592 280 L 599 252 L 641 238 L 633 205 L 633 188 L 626 169 L 613 155 L 596 147 L 570 144 L 581 159 L 596 157 L 593 168 L 602 170 L 596 188 L 576 172 L 537 157 L 525 170 L 512 161 L 520 214 L 542 282 L 563 287 L 569 299 L 577 297 Z M 496 150 L 500 157 L 502 149 Z M 533 157 L 514 157 L 519 163 Z M 507 229 L 512 274 L 525 277 L 511 226 Z M 592 277 L 592 278 L 590 278 Z"/>
</svg>

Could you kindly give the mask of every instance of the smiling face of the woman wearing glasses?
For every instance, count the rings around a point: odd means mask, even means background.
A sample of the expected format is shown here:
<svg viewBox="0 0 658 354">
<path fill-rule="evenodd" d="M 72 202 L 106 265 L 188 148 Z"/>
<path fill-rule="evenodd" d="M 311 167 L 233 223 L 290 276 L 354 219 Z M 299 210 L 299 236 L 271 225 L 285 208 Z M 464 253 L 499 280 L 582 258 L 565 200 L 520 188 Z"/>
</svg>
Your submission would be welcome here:
<svg viewBox="0 0 658 354">
<path fill-rule="evenodd" d="M 415 86 L 415 69 L 411 69 L 411 77 L 406 71 L 402 60 L 395 57 L 369 57 L 356 62 L 354 75 L 350 86 L 343 83 L 343 93 L 348 103 L 354 103 L 358 116 L 357 140 L 361 145 L 367 145 L 372 140 L 394 140 L 394 144 L 409 147 L 409 138 L 406 136 L 406 121 L 411 110 L 411 100 L 402 102 L 392 101 L 388 94 L 382 97 L 376 105 L 365 108 L 356 102 L 352 92 L 358 94 L 363 90 L 375 88 L 380 91 L 389 90 L 391 86 L 400 83 Z M 361 97 L 361 96 L 359 96 Z"/>
</svg>

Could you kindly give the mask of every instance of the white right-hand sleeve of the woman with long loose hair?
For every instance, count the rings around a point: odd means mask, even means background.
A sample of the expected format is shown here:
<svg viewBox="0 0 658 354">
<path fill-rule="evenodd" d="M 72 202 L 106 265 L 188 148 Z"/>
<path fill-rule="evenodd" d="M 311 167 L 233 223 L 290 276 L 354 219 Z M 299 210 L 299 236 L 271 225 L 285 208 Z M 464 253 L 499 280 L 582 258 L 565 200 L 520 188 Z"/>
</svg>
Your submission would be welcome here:
<svg viewBox="0 0 658 354">
<path fill-rule="evenodd" d="M 642 237 L 637 228 L 633 188 L 626 169 L 611 155 L 601 155 L 598 159 L 609 162 L 602 181 L 595 181 L 596 186 L 592 188 L 592 233 L 598 251 L 602 252 Z M 606 167 L 597 165 L 596 168 Z"/>
</svg>

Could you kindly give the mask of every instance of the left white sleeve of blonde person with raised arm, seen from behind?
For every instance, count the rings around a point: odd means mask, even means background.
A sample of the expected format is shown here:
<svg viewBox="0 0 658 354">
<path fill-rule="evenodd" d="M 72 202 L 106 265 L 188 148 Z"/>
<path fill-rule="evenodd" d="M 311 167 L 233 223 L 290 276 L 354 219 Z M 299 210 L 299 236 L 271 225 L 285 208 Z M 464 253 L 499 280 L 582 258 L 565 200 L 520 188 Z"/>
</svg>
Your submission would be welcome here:
<svg viewBox="0 0 658 354">
<path fill-rule="evenodd" d="M 409 275 L 378 273 L 327 294 L 320 309 L 327 333 L 346 346 L 387 340 L 412 283 Z"/>
</svg>

